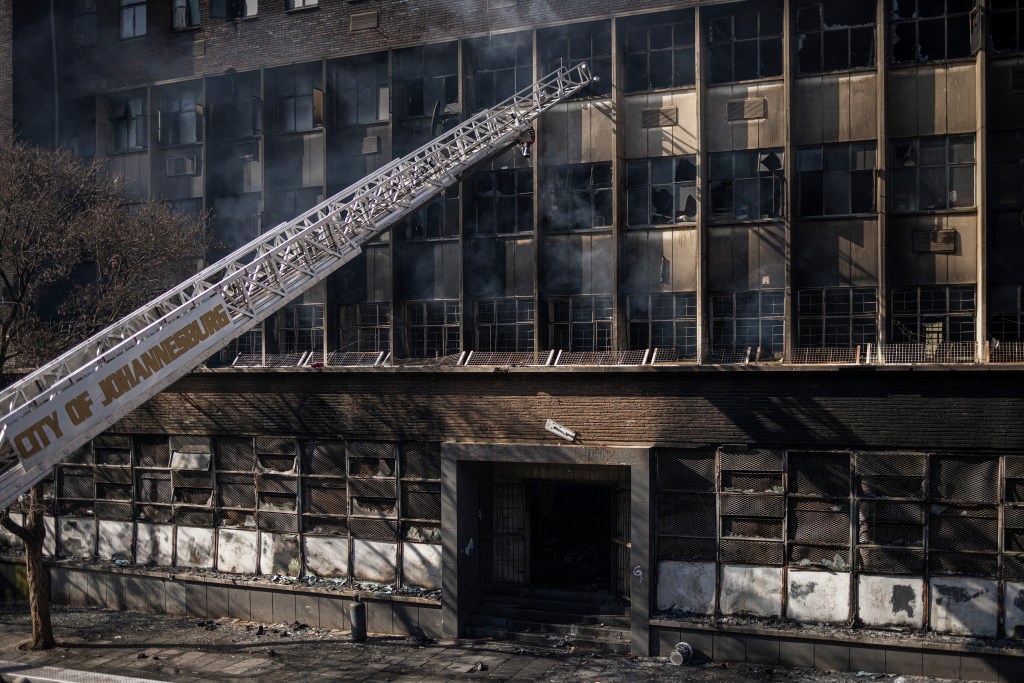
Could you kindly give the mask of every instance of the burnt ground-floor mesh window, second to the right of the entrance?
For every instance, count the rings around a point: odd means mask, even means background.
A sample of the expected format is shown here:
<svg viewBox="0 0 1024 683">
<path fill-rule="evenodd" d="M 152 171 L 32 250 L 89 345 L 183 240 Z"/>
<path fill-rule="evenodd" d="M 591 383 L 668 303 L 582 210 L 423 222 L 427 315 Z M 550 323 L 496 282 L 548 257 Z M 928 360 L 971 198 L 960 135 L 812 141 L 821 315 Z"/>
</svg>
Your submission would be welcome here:
<svg viewBox="0 0 1024 683">
<path fill-rule="evenodd" d="M 719 560 L 723 564 L 784 563 L 785 489 L 781 451 L 720 449 Z"/>
</svg>

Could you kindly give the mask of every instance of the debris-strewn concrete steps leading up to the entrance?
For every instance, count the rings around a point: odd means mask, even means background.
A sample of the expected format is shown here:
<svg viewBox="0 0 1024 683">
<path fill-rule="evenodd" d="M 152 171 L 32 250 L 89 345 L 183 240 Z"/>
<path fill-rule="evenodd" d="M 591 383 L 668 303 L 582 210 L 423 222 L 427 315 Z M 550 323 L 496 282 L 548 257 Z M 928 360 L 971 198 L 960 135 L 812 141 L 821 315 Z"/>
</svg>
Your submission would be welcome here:
<svg viewBox="0 0 1024 683">
<path fill-rule="evenodd" d="M 480 599 L 467 635 L 534 647 L 629 654 L 629 613 L 626 601 L 613 595 L 499 589 Z"/>
</svg>

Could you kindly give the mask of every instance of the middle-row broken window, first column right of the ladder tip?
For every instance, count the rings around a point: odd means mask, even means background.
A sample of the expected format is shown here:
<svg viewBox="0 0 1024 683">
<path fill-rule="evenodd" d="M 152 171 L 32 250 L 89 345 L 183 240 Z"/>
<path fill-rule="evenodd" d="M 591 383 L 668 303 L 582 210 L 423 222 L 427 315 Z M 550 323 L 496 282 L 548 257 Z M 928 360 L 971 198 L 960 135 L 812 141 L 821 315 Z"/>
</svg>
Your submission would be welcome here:
<svg viewBox="0 0 1024 683">
<path fill-rule="evenodd" d="M 696 156 L 626 162 L 626 224 L 693 223 L 697 219 Z"/>
</svg>

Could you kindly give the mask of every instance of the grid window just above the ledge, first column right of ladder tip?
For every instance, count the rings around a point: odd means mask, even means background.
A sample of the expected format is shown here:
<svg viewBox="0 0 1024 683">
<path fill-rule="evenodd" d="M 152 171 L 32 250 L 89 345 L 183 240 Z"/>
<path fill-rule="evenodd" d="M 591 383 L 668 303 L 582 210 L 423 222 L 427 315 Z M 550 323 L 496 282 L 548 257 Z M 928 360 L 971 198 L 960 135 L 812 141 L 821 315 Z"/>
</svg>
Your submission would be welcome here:
<svg viewBox="0 0 1024 683">
<path fill-rule="evenodd" d="M 695 292 L 631 294 L 627 301 L 630 348 L 673 350 L 680 359 L 697 357 Z"/>
</svg>

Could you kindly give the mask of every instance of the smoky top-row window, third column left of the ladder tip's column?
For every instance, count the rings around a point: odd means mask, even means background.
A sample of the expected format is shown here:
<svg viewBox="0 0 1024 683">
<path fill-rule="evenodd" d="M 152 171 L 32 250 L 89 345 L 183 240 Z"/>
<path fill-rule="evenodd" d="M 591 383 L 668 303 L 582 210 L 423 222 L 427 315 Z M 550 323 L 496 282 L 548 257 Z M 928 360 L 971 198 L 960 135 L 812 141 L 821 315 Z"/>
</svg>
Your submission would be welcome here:
<svg viewBox="0 0 1024 683">
<path fill-rule="evenodd" d="M 387 121 L 391 88 L 387 52 L 331 62 L 331 103 L 334 125 L 368 125 Z"/>
</svg>

